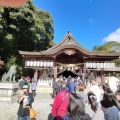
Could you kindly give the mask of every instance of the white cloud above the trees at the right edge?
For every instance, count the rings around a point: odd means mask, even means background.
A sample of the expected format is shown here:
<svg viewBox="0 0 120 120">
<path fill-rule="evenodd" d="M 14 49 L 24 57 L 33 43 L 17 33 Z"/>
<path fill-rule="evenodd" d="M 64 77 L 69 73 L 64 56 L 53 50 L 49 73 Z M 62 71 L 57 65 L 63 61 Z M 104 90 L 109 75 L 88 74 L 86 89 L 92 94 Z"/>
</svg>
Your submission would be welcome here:
<svg viewBox="0 0 120 120">
<path fill-rule="evenodd" d="M 117 41 L 120 43 L 120 28 L 103 38 L 103 42 Z"/>
</svg>

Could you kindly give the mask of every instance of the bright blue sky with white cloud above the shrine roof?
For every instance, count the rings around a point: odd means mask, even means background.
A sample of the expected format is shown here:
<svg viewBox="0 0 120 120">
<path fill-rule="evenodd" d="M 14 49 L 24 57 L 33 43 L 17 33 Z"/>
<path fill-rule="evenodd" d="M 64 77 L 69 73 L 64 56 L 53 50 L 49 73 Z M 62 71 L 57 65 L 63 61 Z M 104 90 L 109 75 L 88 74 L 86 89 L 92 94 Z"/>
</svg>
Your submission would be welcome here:
<svg viewBox="0 0 120 120">
<path fill-rule="evenodd" d="M 70 31 L 74 39 L 92 50 L 108 41 L 120 42 L 120 0 L 33 0 L 53 18 L 54 42 Z"/>
</svg>

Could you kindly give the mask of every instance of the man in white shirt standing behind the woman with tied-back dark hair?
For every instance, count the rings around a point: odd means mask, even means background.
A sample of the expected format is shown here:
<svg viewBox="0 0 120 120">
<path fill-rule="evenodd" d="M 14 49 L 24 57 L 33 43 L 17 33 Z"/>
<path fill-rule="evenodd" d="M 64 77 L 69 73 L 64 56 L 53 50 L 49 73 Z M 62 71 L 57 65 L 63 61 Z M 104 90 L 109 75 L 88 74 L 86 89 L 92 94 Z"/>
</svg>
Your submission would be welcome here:
<svg viewBox="0 0 120 120">
<path fill-rule="evenodd" d="M 92 80 L 91 81 L 91 88 L 90 88 L 90 92 L 94 93 L 97 97 L 97 102 L 99 103 L 100 102 L 100 95 L 101 95 L 101 92 L 100 92 L 100 88 L 98 87 L 96 81 Z"/>
</svg>

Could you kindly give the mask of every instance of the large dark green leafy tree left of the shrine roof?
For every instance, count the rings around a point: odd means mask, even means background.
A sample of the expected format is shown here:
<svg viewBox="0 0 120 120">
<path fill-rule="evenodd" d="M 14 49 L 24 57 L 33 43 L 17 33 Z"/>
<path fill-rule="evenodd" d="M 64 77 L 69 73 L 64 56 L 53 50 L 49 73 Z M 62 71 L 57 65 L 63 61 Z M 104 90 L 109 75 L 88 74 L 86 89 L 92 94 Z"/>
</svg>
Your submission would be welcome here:
<svg viewBox="0 0 120 120">
<path fill-rule="evenodd" d="M 39 10 L 32 1 L 20 8 L 0 7 L 0 56 L 7 67 L 22 65 L 18 50 L 41 51 L 53 46 L 53 34 L 50 13 Z"/>
</svg>

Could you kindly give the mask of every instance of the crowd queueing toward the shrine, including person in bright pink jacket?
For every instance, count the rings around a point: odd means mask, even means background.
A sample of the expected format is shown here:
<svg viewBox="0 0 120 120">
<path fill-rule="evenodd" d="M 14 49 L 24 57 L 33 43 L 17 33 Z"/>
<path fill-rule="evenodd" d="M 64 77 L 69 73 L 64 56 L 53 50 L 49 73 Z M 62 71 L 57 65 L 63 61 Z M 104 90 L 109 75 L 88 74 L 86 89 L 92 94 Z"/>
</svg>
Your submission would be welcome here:
<svg viewBox="0 0 120 120">
<path fill-rule="evenodd" d="M 91 80 L 91 87 L 86 94 L 85 84 L 53 80 L 52 112 L 48 120 L 120 120 L 120 90 L 115 93 L 109 85 L 103 85 L 104 93 Z"/>
</svg>

